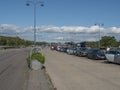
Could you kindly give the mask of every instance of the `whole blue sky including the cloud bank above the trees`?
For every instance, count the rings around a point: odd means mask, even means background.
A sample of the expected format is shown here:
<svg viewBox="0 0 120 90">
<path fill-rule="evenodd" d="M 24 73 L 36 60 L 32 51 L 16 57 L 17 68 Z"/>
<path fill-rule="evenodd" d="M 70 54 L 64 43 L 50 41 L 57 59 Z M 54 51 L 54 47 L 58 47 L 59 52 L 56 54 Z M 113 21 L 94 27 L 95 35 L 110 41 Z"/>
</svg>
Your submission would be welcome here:
<svg viewBox="0 0 120 90">
<path fill-rule="evenodd" d="M 0 35 L 34 40 L 34 2 L 0 0 Z M 120 40 L 120 0 L 42 0 L 36 5 L 37 41 Z M 100 34 L 100 37 L 99 37 Z"/>
</svg>

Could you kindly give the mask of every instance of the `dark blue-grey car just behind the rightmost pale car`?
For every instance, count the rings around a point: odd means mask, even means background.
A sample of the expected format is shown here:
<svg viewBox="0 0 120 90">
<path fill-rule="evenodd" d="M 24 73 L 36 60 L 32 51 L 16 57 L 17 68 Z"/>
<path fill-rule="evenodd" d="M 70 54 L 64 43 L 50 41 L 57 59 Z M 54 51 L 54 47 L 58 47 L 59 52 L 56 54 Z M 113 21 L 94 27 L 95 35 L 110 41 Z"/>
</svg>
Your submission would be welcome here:
<svg viewBox="0 0 120 90">
<path fill-rule="evenodd" d="M 95 59 L 95 60 L 106 59 L 105 53 L 100 49 L 90 49 L 90 50 L 88 50 L 87 58 Z"/>
</svg>

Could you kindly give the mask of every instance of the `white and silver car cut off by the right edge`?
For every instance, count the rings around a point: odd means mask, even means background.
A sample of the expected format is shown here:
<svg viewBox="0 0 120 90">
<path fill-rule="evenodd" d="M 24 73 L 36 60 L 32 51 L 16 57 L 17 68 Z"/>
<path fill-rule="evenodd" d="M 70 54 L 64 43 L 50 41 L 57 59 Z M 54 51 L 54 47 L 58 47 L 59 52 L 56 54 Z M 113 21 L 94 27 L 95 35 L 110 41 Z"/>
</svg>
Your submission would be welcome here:
<svg viewBox="0 0 120 90">
<path fill-rule="evenodd" d="M 108 62 L 120 64 L 120 50 L 107 51 L 105 56 Z"/>
</svg>

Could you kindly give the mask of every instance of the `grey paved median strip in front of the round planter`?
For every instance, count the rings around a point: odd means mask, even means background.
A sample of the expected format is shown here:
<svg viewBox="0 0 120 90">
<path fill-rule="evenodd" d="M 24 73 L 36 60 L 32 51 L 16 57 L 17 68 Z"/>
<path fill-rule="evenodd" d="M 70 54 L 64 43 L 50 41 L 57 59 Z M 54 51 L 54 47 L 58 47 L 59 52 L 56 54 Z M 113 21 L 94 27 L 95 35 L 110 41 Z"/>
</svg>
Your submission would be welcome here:
<svg viewBox="0 0 120 90">
<path fill-rule="evenodd" d="M 28 70 L 23 90 L 56 90 L 45 69 Z"/>
</svg>

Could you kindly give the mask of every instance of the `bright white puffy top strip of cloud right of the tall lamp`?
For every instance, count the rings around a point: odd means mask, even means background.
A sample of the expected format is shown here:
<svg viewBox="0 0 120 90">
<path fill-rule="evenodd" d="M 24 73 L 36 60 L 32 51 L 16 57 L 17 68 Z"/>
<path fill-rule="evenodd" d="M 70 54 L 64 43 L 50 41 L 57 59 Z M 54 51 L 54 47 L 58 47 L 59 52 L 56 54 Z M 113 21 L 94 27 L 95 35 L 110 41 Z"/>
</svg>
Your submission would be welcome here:
<svg viewBox="0 0 120 90">
<path fill-rule="evenodd" d="M 47 32 L 82 32 L 82 33 L 95 33 L 98 32 L 99 29 L 101 31 L 104 30 L 104 28 L 99 28 L 99 26 L 91 26 L 91 27 L 84 27 L 84 26 L 41 26 L 37 27 L 39 31 L 47 31 Z"/>
</svg>

